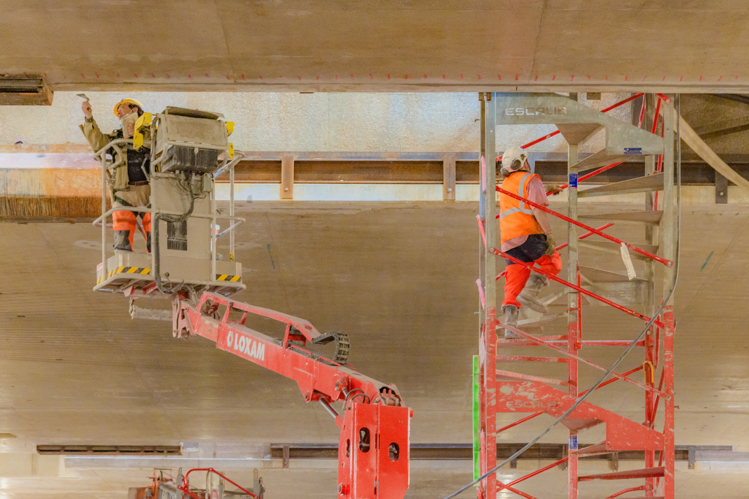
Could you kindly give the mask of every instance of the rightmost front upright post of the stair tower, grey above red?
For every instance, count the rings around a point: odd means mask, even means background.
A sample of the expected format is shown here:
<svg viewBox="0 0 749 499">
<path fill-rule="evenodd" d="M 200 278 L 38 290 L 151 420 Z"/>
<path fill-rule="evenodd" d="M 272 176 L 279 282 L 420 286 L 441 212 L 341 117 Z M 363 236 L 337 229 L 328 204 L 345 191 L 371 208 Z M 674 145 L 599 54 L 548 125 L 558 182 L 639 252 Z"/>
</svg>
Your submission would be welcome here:
<svg viewBox="0 0 749 499">
<path fill-rule="evenodd" d="M 664 102 L 661 107 L 664 108 L 664 153 L 663 153 L 663 255 L 665 258 L 674 261 L 674 182 L 673 182 L 673 105 Z M 673 267 L 666 267 L 664 272 L 664 297 L 667 296 L 671 284 L 673 284 Z M 676 325 L 673 321 L 673 297 L 664 308 L 664 392 L 670 395 L 670 399 L 664 400 L 664 465 L 666 473 L 664 476 L 664 498 L 674 499 L 674 467 L 676 457 L 674 456 L 674 391 L 673 391 L 673 335 L 676 332 Z"/>
</svg>

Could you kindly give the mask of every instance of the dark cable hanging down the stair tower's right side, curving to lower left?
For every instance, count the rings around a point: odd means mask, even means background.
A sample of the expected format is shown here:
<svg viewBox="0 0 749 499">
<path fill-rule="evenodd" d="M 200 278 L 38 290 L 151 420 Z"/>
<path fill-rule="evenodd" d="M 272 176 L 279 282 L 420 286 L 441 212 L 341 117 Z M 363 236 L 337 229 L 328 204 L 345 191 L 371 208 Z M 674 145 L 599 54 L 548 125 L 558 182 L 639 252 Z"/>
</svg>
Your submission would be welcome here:
<svg viewBox="0 0 749 499">
<path fill-rule="evenodd" d="M 518 452 L 512 454 L 512 456 L 509 456 L 509 458 L 505 459 L 503 462 L 500 462 L 499 465 L 495 466 L 494 468 L 491 468 L 491 470 L 487 471 L 485 474 L 482 474 L 481 477 L 477 478 L 476 480 L 473 480 L 473 482 L 467 484 L 466 486 L 461 487 L 461 489 L 456 490 L 452 494 L 448 495 L 445 499 L 451 499 L 454 498 L 456 495 L 461 494 L 462 492 L 465 492 L 467 489 L 470 489 L 476 483 L 481 482 L 485 478 L 489 477 L 491 474 L 494 474 L 498 469 L 502 468 L 504 465 L 506 465 L 508 462 L 511 462 L 513 459 L 517 459 L 518 456 L 520 456 L 522 453 L 524 453 L 526 450 L 530 449 L 530 447 L 533 444 L 536 444 L 537 441 L 541 440 L 548 432 L 551 432 L 551 429 L 554 428 L 554 426 L 557 426 L 557 424 L 561 423 L 562 420 L 565 419 L 572 411 L 574 411 L 575 408 L 577 408 L 578 405 L 580 405 L 583 400 L 586 399 L 586 397 L 589 394 L 592 394 L 593 391 L 595 391 L 598 386 L 601 385 L 604 381 L 606 381 L 607 377 L 613 372 L 613 370 L 616 369 L 617 366 L 625 359 L 625 357 L 629 354 L 629 352 L 634 349 L 634 346 L 637 345 L 637 342 L 642 339 L 642 337 L 645 335 L 645 333 L 648 331 L 648 329 L 652 326 L 653 322 L 655 322 L 655 318 L 661 315 L 664 308 L 670 301 L 671 297 L 673 296 L 674 290 L 676 290 L 676 282 L 679 280 L 679 255 L 680 255 L 680 243 L 681 243 L 681 235 L 682 235 L 682 138 L 681 138 L 681 126 L 680 122 L 682 120 L 682 113 L 681 113 L 681 100 L 679 99 L 679 94 L 676 94 L 674 105 L 676 108 L 676 258 L 673 264 L 673 281 L 671 283 L 671 288 L 668 291 L 668 296 L 666 299 L 664 299 L 663 303 L 661 304 L 661 307 L 658 308 L 658 312 L 654 313 L 652 318 L 646 323 L 645 328 L 643 328 L 642 331 L 640 331 L 640 334 L 637 334 L 637 337 L 632 340 L 632 343 L 629 344 L 629 346 L 625 349 L 625 351 L 622 353 L 622 355 L 619 356 L 618 359 L 616 359 L 616 362 L 614 362 L 611 367 L 608 368 L 604 376 L 601 376 L 601 379 L 598 379 L 598 382 L 595 382 L 595 385 L 592 386 L 592 388 L 589 388 L 588 391 L 586 391 L 582 397 L 578 397 L 577 401 L 572 404 L 570 408 L 568 408 L 567 411 L 565 411 L 564 414 L 562 414 L 557 420 L 554 421 L 554 423 L 551 423 L 551 426 L 549 426 L 547 429 L 545 429 L 539 436 L 533 439 L 533 441 L 530 441 L 528 444 L 525 445 L 521 450 L 518 450 Z M 668 112 L 667 110 L 664 110 L 664 112 Z M 673 146 L 672 146 L 673 147 Z"/>
</svg>

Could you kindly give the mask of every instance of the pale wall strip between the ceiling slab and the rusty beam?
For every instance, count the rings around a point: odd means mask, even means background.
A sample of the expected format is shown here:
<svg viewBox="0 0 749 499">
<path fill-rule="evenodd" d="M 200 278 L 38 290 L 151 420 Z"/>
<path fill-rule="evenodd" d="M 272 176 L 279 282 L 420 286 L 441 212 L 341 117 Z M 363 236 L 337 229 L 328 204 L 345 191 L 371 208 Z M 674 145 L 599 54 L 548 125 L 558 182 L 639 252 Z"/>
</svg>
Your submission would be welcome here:
<svg viewBox="0 0 749 499">
<path fill-rule="evenodd" d="M 476 151 L 479 150 L 479 100 L 464 94 L 296 94 L 237 92 L 88 92 L 101 129 L 118 127 L 112 107 L 124 97 L 146 111 L 166 105 L 219 111 L 234 121 L 234 147 L 240 150 L 311 151 Z M 603 94 L 586 101 L 604 108 L 629 94 Z M 580 94 L 584 97 L 585 94 Z M 85 144 L 78 129 L 82 100 L 74 92 L 55 92 L 51 106 L 0 106 L 0 144 Z M 612 111 L 630 119 L 630 106 Z M 498 126 L 497 150 L 524 144 L 556 129 Z M 602 137 L 601 137 L 602 138 Z M 601 138 L 587 150 L 598 150 Z M 561 136 L 532 151 L 565 152 Z"/>
</svg>

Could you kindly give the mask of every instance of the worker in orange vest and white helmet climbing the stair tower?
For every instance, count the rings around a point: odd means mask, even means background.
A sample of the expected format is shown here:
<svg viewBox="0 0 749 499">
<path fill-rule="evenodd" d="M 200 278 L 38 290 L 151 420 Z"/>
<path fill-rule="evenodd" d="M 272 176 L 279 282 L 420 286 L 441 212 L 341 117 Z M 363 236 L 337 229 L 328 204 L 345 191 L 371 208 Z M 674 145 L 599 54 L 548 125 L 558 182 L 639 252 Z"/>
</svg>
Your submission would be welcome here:
<svg viewBox="0 0 749 499">
<path fill-rule="evenodd" d="M 528 153 L 520 147 L 510 147 L 504 152 L 500 172 L 504 177 L 500 188 L 517 193 L 533 203 L 548 206 L 541 177 L 530 173 Z M 521 262 L 535 262 L 542 270 L 553 275 L 562 270 L 562 259 L 554 248 L 551 224 L 542 210 L 500 192 L 500 233 L 503 253 Z M 549 279 L 535 272 L 531 274 L 530 269 L 512 260 L 507 260 L 505 270 L 505 299 L 502 302 L 504 322 L 517 326 L 518 309 L 522 305 L 545 313 L 546 306 L 537 297 L 542 287 L 549 284 Z M 505 337 L 518 335 L 505 330 Z"/>
</svg>

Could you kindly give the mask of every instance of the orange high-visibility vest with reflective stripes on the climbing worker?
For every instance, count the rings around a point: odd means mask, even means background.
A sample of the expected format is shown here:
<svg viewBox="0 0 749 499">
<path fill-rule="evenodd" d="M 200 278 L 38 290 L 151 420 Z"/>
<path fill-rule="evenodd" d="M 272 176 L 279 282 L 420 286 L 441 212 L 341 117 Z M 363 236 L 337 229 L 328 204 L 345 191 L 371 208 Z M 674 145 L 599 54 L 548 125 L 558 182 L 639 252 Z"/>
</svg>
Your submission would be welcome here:
<svg viewBox="0 0 749 499">
<path fill-rule="evenodd" d="M 533 177 L 539 177 L 530 171 L 515 171 L 503 181 L 500 186 L 507 192 L 528 198 L 528 183 Z M 541 177 L 539 177 L 541 180 Z M 500 192 L 500 233 L 504 243 L 518 236 L 530 236 L 530 234 L 542 234 L 544 230 L 533 216 L 533 209 L 528 203 Z"/>
</svg>

